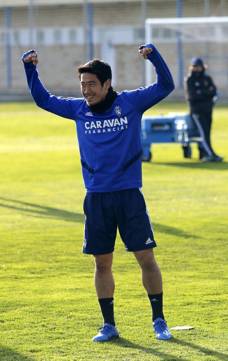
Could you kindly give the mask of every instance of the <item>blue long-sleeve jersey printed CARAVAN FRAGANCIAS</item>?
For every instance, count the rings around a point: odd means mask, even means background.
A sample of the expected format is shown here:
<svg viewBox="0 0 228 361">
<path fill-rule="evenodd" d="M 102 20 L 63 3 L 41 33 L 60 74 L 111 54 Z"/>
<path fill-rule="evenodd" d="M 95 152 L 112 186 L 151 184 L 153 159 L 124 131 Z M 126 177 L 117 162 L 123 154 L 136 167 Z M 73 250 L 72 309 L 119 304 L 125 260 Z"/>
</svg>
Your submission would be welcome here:
<svg viewBox="0 0 228 361">
<path fill-rule="evenodd" d="M 36 66 L 23 62 L 36 105 L 76 123 L 87 193 L 142 186 L 142 114 L 174 89 L 172 75 L 157 49 L 152 44 L 145 46 L 153 48 L 147 57 L 155 67 L 157 81 L 148 87 L 117 93 L 111 108 L 102 114 L 91 112 L 84 98 L 51 95 L 41 83 Z"/>
</svg>

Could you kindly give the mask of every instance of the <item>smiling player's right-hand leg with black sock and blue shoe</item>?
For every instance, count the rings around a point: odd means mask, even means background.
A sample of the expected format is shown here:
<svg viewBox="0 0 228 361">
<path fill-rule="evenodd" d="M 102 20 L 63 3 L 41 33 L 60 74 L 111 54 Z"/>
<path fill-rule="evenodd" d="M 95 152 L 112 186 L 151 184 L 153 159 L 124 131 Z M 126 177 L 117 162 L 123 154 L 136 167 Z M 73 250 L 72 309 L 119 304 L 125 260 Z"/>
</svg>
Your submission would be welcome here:
<svg viewBox="0 0 228 361">
<path fill-rule="evenodd" d="M 163 314 L 162 275 L 155 261 L 153 248 L 133 252 L 142 271 L 142 284 L 147 292 L 152 308 L 152 321 L 157 339 L 171 338 L 171 333 Z"/>
</svg>

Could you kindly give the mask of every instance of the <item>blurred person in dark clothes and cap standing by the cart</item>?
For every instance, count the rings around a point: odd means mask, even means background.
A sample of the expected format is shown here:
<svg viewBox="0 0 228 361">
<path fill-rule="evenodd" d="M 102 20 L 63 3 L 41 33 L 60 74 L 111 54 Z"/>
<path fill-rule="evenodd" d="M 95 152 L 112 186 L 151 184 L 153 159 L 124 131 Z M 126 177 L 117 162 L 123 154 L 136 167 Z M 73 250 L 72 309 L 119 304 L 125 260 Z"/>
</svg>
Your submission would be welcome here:
<svg viewBox="0 0 228 361">
<path fill-rule="evenodd" d="M 192 58 L 189 73 L 184 78 L 185 99 L 190 114 L 197 126 L 202 142 L 198 143 L 199 158 L 203 162 L 221 162 L 223 157 L 215 154 L 211 147 L 210 132 L 212 121 L 212 108 L 216 97 L 216 87 L 211 77 L 205 75 L 207 65 L 197 57 Z M 183 144 L 184 157 L 191 157 L 189 144 Z"/>
</svg>

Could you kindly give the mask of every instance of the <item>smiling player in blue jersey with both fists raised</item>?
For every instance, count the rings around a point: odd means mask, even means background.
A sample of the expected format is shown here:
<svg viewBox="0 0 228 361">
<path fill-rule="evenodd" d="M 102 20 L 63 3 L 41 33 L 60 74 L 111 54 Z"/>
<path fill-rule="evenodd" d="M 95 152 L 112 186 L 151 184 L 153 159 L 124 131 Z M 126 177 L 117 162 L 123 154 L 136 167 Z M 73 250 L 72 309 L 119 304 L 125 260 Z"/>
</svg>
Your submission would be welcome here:
<svg viewBox="0 0 228 361">
<path fill-rule="evenodd" d="M 162 276 L 154 259 L 156 243 L 141 191 L 140 128 L 142 114 L 165 98 L 174 89 L 174 82 L 152 44 L 141 45 L 139 53 L 155 67 L 154 84 L 116 93 L 111 87 L 110 66 L 93 59 L 78 69 L 83 95 L 78 99 L 51 95 L 38 77 L 36 52 L 29 51 L 22 57 L 36 105 L 76 123 L 86 187 L 83 253 L 95 259 L 95 289 L 104 319 L 93 341 L 119 336 L 111 271 L 117 227 L 126 251 L 133 252 L 140 265 L 142 284 L 152 307 L 155 337 L 161 340 L 172 337 L 163 314 Z"/>
</svg>

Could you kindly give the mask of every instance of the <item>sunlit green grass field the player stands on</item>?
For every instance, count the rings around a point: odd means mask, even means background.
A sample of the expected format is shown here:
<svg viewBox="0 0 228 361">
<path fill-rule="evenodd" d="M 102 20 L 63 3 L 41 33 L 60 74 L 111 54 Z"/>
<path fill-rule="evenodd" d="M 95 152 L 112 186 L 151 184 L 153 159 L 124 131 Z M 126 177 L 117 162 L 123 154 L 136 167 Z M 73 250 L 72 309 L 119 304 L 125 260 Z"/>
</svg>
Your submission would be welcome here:
<svg viewBox="0 0 228 361">
<path fill-rule="evenodd" d="M 187 111 L 160 103 L 152 114 Z M 158 247 L 164 312 L 172 331 L 155 339 L 133 254 L 118 235 L 113 273 L 120 338 L 93 343 L 102 325 L 93 256 L 82 254 L 83 199 L 75 124 L 34 103 L 0 104 L 0 360 L 228 360 L 228 107 L 214 110 L 222 163 L 184 159 L 156 144 L 143 192 Z"/>
</svg>

